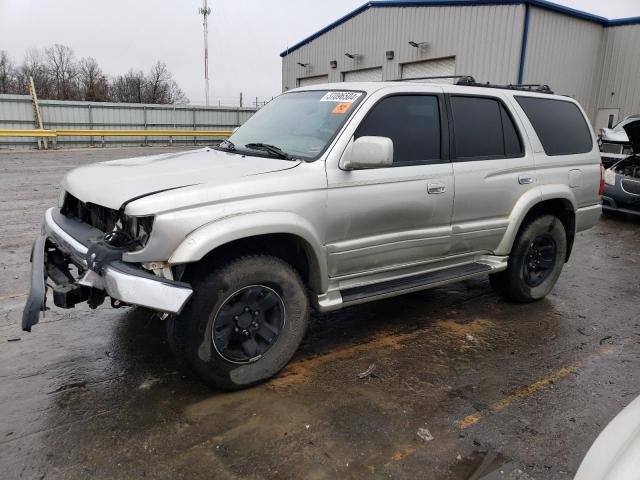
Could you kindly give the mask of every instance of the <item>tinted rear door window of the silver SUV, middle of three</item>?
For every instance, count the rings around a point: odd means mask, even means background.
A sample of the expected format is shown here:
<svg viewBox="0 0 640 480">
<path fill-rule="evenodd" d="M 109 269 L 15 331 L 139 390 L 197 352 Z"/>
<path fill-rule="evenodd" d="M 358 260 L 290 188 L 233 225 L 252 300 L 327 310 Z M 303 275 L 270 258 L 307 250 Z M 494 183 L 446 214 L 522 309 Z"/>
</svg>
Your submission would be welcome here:
<svg viewBox="0 0 640 480">
<path fill-rule="evenodd" d="M 495 98 L 451 96 L 456 159 L 484 160 L 522 156 L 518 130 Z"/>
</svg>

